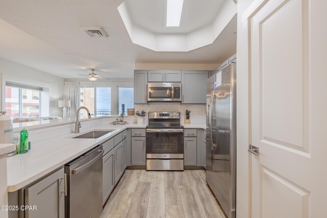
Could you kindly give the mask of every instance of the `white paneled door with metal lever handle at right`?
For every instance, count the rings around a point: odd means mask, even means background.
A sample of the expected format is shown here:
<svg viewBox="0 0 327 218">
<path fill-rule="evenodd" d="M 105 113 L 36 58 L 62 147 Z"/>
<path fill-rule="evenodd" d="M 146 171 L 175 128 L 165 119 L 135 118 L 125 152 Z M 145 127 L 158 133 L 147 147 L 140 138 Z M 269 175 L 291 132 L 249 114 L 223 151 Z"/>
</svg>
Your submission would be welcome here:
<svg viewBox="0 0 327 218">
<path fill-rule="evenodd" d="M 270 0 L 248 19 L 253 218 L 327 217 L 326 2 Z"/>
</svg>

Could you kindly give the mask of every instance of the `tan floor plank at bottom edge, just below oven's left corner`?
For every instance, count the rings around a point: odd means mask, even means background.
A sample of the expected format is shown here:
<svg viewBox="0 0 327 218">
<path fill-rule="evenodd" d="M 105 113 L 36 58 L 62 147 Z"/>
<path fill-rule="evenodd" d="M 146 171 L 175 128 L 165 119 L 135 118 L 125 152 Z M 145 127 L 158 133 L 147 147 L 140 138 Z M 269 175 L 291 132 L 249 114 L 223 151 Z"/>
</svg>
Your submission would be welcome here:
<svg viewBox="0 0 327 218">
<path fill-rule="evenodd" d="M 145 218 L 147 216 L 150 187 L 150 182 L 137 183 L 137 187 L 133 196 L 133 200 L 129 207 L 127 217 Z"/>
</svg>

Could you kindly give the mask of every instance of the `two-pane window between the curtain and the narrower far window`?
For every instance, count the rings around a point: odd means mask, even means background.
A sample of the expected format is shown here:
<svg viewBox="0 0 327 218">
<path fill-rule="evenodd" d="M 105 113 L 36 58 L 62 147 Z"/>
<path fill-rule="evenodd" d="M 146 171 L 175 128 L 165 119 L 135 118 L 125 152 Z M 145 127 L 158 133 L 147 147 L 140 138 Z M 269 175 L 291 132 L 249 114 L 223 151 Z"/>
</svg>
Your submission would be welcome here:
<svg viewBox="0 0 327 218">
<path fill-rule="evenodd" d="M 80 106 L 87 107 L 91 115 L 111 114 L 111 88 L 108 87 L 80 87 Z M 80 111 L 86 116 L 86 111 Z"/>
</svg>

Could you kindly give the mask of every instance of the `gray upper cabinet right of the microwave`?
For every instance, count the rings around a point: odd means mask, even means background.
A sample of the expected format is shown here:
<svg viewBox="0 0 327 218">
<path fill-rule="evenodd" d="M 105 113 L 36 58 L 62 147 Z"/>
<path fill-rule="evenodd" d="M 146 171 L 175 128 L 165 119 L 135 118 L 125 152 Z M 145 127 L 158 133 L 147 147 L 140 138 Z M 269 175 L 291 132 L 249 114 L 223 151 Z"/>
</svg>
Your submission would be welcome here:
<svg viewBox="0 0 327 218">
<path fill-rule="evenodd" d="M 207 71 L 182 71 L 182 103 L 206 103 L 207 77 Z"/>
</svg>

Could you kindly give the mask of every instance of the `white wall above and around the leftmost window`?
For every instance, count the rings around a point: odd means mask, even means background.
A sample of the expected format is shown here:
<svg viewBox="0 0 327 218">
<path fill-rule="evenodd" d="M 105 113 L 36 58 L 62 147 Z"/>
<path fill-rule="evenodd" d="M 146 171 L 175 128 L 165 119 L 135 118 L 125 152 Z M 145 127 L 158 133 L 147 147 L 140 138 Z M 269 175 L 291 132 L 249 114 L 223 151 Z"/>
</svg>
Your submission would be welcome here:
<svg viewBox="0 0 327 218">
<path fill-rule="evenodd" d="M 50 116 L 62 116 L 62 109 L 58 108 L 58 100 L 63 98 L 64 79 L 47 74 L 46 72 L 33 69 L 31 67 L 21 65 L 12 61 L 0 58 L 0 73 L 2 73 L 2 105 L 4 105 L 4 89 L 6 80 L 8 78 L 15 78 L 15 80 L 23 81 L 24 84 L 42 86 L 50 88 Z M 21 83 L 21 82 L 20 82 Z M 42 99 L 41 99 L 42 101 Z M 2 107 L 4 109 L 4 106 Z"/>
</svg>

